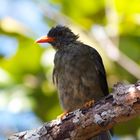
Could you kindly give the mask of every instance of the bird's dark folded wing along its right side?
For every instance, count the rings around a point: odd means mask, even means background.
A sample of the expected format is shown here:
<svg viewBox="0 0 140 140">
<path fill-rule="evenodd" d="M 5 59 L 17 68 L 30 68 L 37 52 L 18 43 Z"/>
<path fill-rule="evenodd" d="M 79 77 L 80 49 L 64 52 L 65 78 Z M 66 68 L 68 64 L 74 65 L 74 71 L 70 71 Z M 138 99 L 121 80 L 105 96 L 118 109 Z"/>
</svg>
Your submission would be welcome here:
<svg viewBox="0 0 140 140">
<path fill-rule="evenodd" d="M 94 59 L 93 61 L 95 62 L 95 67 L 96 67 L 96 70 L 98 73 L 101 89 L 102 89 L 104 95 L 108 95 L 109 90 L 108 90 L 106 72 L 105 72 L 102 58 L 101 58 L 100 54 L 94 48 L 90 48 L 90 51 L 92 53 L 92 58 Z"/>
</svg>

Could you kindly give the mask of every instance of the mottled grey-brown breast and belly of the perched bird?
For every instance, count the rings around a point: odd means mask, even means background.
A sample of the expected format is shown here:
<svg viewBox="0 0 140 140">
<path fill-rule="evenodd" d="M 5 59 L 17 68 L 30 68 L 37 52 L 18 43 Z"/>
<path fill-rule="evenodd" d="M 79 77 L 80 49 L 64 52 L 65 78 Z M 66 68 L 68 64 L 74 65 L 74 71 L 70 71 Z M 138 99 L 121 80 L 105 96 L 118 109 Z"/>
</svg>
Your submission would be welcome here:
<svg viewBox="0 0 140 140">
<path fill-rule="evenodd" d="M 80 108 L 93 98 L 100 98 L 94 62 L 87 55 L 63 52 L 55 56 L 55 73 L 60 103 L 64 110 Z"/>
</svg>

